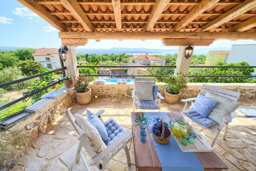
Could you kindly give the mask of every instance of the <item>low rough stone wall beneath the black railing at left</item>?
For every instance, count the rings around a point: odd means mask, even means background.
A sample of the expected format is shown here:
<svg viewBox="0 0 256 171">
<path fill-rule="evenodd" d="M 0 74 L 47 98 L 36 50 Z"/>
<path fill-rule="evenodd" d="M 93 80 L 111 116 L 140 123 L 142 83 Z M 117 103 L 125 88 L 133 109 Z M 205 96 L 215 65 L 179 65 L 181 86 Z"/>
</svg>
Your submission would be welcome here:
<svg viewBox="0 0 256 171">
<path fill-rule="evenodd" d="M 15 150 L 13 160 L 24 153 L 26 148 L 33 144 L 40 134 L 49 128 L 55 118 L 63 115 L 63 112 L 75 102 L 74 93 L 71 88 L 67 89 L 63 87 L 61 89 L 65 90 L 65 92 L 55 99 L 42 99 L 27 108 L 35 111 L 35 113 L 18 120 L 14 126 L 6 131 L 1 130 L 0 140 L 5 140 L 6 134 L 10 135 L 12 133 L 17 134 L 15 135 L 17 139 L 21 139 L 22 137 L 24 140 L 23 144 L 21 140 L 21 144 L 14 144 L 18 148 Z"/>
</svg>

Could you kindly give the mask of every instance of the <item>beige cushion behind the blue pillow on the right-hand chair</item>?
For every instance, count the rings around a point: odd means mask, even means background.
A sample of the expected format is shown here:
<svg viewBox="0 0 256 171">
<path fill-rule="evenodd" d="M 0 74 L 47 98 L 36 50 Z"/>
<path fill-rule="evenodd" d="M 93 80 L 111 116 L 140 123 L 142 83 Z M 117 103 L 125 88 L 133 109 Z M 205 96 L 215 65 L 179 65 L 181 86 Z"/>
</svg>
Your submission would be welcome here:
<svg viewBox="0 0 256 171">
<path fill-rule="evenodd" d="M 239 107 L 239 105 L 241 105 L 241 103 L 239 102 L 227 99 L 226 97 L 222 97 L 213 93 L 207 92 L 205 96 L 218 101 L 218 103 L 209 113 L 208 117 L 217 121 L 217 123 L 219 124 L 222 123 L 223 117 L 234 112 Z"/>
</svg>

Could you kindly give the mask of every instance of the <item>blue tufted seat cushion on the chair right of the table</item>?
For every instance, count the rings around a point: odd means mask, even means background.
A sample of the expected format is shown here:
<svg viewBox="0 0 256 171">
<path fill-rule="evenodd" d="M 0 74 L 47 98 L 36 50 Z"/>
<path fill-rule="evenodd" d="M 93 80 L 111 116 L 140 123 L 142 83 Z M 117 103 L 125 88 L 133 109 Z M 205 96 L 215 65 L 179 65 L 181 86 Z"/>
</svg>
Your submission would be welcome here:
<svg viewBox="0 0 256 171">
<path fill-rule="evenodd" d="M 182 111 L 187 117 L 194 120 L 197 124 L 204 126 L 205 128 L 209 128 L 212 125 L 218 124 L 216 121 L 206 117 L 203 118 L 198 112 L 191 109 L 188 111 Z"/>
</svg>

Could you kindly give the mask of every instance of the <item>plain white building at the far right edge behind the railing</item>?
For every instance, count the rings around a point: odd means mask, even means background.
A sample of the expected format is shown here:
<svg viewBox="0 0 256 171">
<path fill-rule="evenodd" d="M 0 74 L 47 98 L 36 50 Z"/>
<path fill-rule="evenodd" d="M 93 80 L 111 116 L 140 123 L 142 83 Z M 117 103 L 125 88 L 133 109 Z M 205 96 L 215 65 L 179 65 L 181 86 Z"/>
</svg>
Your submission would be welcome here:
<svg viewBox="0 0 256 171">
<path fill-rule="evenodd" d="M 246 61 L 250 66 L 256 66 L 256 44 L 250 45 L 232 45 L 227 63 L 243 62 Z M 254 74 L 256 74 L 256 68 L 254 68 Z"/>
</svg>

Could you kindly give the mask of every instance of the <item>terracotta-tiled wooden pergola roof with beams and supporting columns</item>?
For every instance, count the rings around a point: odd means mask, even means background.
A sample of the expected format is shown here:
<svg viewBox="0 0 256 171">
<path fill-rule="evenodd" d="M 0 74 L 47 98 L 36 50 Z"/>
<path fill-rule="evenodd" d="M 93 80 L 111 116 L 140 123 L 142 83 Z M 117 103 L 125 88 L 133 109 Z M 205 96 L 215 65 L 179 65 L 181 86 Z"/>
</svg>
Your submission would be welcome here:
<svg viewBox="0 0 256 171">
<path fill-rule="evenodd" d="M 72 72 L 75 46 L 86 45 L 88 39 L 162 39 L 164 45 L 179 46 L 175 72 L 184 73 L 191 58 L 182 56 L 189 44 L 256 40 L 256 0 L 18 1 L 58 29 L 62 45 L 73 48 Z"/>
</svg>

